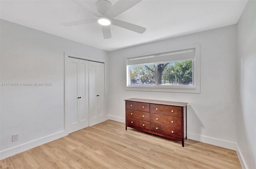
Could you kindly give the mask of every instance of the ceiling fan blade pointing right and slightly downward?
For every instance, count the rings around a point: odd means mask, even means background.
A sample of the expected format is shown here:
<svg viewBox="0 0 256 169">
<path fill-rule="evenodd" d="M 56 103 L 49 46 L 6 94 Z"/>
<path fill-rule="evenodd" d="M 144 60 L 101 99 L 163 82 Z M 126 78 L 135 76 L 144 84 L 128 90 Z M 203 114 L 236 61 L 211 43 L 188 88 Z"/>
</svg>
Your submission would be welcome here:
<svg viewBox="0 0 256 169">
<path fill-rule="evenodd" d="M 129 22 L 124 22 L 124 21 L 121 21 L 121 20 L 112 19 L 111 24 L 115 25 L 115 26 L 119 26 L 119 27 L 124 28 L 124 29 L 129 29 L 131 31 L 135 31 L 135 32 L 138 32 L 138 33 L 144 33 L 144 31 L 146 31 L 146 28 L 144 28 L 142 26 L 131 24 Z"/>
</svg>

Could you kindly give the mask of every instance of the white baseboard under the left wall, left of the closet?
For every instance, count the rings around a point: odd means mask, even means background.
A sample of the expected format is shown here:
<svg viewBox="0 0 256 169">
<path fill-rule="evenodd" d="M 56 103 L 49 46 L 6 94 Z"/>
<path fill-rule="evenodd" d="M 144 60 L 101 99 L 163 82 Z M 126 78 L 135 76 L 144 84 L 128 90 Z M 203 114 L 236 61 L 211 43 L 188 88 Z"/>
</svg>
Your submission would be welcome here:
<svg viewBox="0 0 256 169">
<path fill-rule="evenodd" d="M 44 143 L 48 143 L 50 141 L 53 141 L 53 140 L 56 140 L 58 138 L 64 137 L 66 135 L 67 134 L 66 134 L 65 131 L 61 131 L 61 132 L 58 132 L 58 133 L 55 133 L 55 134 L 51 134 L 50 136 L 46 136 L 46 137 L 43 137 L 43 138 L 40 138 L 40 139 L 37 139 L 37 140 L 34 140 L 34 141 L 30 141 L 28 143 L 24 143 L 22 145 L 18 145 L 16 147 L 12 147 L 10 149 L 3 150 L 3 151 L 0 152 L 0 159 L 5 159 L 5 158 L 10 157 L 12 155 L 21 153 L 21 152 L 26 151 L 28 149 L 32 149 L 32 148 L 37 147 L 39 145 L 42 145 Z"/>
</svg>

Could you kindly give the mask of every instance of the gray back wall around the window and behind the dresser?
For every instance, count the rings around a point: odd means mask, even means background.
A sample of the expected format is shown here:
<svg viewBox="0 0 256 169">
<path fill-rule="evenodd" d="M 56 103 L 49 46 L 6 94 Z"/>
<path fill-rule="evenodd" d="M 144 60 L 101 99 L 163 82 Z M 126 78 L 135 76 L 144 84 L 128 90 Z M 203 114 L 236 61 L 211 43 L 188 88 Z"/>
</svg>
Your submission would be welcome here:
<svg viewBox="0 0 256 169">
<path fill-rule="evenodd" d="M 126 89 L 126 59 L 200 43 L 201 93 Z M 236 148 L 236 25 L 110 52 L 109 116 L 124 122 L 124 99 L 188 102 L 188 138 Z"/>
</svg>

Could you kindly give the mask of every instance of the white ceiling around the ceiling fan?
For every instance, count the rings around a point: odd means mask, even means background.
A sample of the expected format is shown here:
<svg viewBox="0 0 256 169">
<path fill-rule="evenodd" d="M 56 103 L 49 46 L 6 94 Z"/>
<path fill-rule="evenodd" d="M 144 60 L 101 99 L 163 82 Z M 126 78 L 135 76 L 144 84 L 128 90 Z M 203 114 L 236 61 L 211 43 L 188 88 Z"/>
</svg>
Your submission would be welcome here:
<svg viewBox="0 0 256 169">
<path fill-rule="evenodd" d="M 96 0 L 87 1 L 96 9 Z M 112 4 L 117 0 L 110 0 Z M 139 34 L 111 26 L 104 39 L 97 23 L 65 27 L 62 23 L 96 18 L 70 0 L 1 0 L 1 18 L 30 28 L 112 51 L 169 37 L 236 24 L 247 0 L 143 0 L 116 19 L 143 26 Z"/>
</svg>

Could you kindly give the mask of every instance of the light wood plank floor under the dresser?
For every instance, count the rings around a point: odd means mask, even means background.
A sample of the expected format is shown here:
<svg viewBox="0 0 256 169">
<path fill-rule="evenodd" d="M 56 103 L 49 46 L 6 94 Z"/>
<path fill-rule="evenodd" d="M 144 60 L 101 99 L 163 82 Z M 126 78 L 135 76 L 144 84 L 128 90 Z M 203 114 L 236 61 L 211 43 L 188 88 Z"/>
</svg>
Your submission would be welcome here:
<svg viewBox="0 0 256 169">
<path fill-rule="evenodd" d="M 170 141 L 107 120 L 1 160 L 0 169 L 240 169 L 236 151 Z"/>
</svg>

